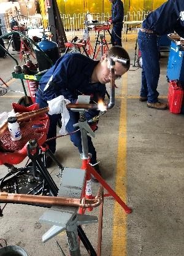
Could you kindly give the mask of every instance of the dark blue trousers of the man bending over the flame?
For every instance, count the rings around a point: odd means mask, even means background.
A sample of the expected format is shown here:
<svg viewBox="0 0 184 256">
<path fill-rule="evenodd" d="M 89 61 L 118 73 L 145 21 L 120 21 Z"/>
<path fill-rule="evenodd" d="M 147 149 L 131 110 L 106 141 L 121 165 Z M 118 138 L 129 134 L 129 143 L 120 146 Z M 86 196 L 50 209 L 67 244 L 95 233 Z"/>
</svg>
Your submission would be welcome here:
<svg viewBox="0 0 184 256">
<path fill-rule="evenodd" d="M 42 99 L 42 93 L 38 90 L 36 95 L 36 103 L 39 104 L 40 108 L 47 107 L 47 101 Z M 91 117 L 94 117 L 96 114 L 98 114 L 98 111 L 88 111 L 86 114 L 86 118 L 89 120 Z M 72 131 L 78 130 L 79 127 L 74 128 L 74 124 L 79 122 L 79 112 L 73 112 L 69 110 L 70 119 L 69 122 L 66 125 L 66 130 L 68 133 L 71 133 Z M 48 129 L 47 139 L 53 138 L 56 136 L 56 128 L 57 128 L 57 122 L 58 118 L 60 118 L 60 114 L 58 115 L 48 115 L 50 119 L 50 126 Z M 75 147 L 78 148 L 79 152 L 82 153 L 82 141 L 80 136 L 80 131 L 77 131 L 77 133 L 71 134 L 71 141 L 75 145 Z M 52 139 L 52 141 L 47 142 L 49 149 L 55 153 L 56 151 L 56 139 Z M 94 148 L 93 142 L 91 141 L 91 137 L 88 136 L 88 152 L 91 153 L 91 163 L 96 163 L 96 150 Z"/>
</svg>

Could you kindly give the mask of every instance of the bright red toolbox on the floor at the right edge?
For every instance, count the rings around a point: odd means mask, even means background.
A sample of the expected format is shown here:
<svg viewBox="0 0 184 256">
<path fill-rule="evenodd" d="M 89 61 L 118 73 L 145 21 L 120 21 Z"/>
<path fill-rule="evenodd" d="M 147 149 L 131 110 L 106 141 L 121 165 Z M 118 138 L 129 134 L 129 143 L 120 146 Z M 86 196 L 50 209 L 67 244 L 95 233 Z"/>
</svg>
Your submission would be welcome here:
<svg viewBox="0 0 184 256">
<path fill-rule="evenodd" d="M 183 88 L 176 80 L 169 82 L 168 103 L 171 113 L 180 114 L 183 104 Z"/>
</svg>

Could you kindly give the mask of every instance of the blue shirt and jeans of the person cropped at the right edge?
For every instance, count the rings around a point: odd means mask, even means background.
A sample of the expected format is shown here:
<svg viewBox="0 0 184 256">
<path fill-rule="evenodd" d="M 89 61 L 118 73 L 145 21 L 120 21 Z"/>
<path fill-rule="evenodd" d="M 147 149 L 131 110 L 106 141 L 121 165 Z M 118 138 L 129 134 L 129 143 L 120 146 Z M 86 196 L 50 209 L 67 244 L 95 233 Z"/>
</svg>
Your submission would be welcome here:
<svg viewBox="0 0 184 256">
<path fill-rule="evenodd" d="M 158 36 L 175 31 L 184 36 L 184 1 L 169 0 L 143 21 L 142 28 L 150 29 L 153 33 L 139 30 L 138 44 L 142 55 L 142 87 L 140 96 L 148 97 L 148 103 L 158 101 L 159 46 Z"/>
</svg>

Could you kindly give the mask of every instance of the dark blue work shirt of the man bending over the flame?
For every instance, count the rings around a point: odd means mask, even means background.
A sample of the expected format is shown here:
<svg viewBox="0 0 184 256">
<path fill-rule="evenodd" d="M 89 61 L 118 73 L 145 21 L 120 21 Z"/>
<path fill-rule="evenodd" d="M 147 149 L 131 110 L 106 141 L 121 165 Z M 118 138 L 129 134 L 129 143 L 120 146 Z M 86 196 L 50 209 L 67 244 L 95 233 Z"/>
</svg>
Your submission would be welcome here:
<svg viewBox="0 0 184 256">
<path fill-rule="evenodd" d="M 64 95 L 71 103 L 75 103 L 79 93 L 89 93 L 91 74 L 98 63 L 99 61 L 91 60 L 81 53 L 67 53 L 44 74 L 39 82 L 39 90 L 47 101 Z M 95 88 L 104 96 L 105 85 L 97 83 Z M 94 86 L 91 93 L 94 94 Z"/>
</svg>

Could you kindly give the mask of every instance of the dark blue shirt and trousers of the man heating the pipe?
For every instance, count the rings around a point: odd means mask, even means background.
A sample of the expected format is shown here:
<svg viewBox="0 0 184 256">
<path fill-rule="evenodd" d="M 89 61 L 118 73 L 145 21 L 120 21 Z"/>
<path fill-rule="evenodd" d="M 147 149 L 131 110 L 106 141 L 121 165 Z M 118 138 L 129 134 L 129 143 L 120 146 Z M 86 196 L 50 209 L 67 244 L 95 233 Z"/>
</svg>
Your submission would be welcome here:
<svg viewBox="0 0 184 256">
<path fill-rule="evenodd" d="M 92 102 L 93 100 L 97 102 L 99 98 L 104 99 L 105 85 L 102 83 L 91 83 L 93 69 L 98 63 L 99 61 L 91 60 L 80 53 L 67 53 L 61 56 L 39 82 L 39 89 L 36 96 L 36 102 L 39 103 L 39 107 L 48 106 L 47 101 L 59 95 L 63 95 L 71 103 L 76 103 L 78 95 L 82 94 L 91 95 Z M 52 80 L 48 82 L 51 76 L 53 76 Z M 47 89 L 44 90 L 44 88 Z M 89 110 L 86 112 L 86 119 L 90 120 L 98 114 L 99 111 Z M 69 115 L 70 119 L 66 125 L 66 130 L 68 133 L 71 133 L 78 129 L 74 128 L 73 125 L 79 122 L 79 112 L 69 110 Z M 47 138 L 53 138 L 56 136 L 56 125 L 59 115 L 50 115 L 49 118 L 50 127 Z M 82 153 L 80 131 L 71 134 L 71 141 L 79 149 L 79 152 Z M 49 141 L 48 147 L 54 153 L 56 150 L 56 140 Z M 88 136 L 88 151 L 92 155 L 91 163 L 96 163 L 96 150 L 94 149 L 90 136 Z"/>
</svg>

